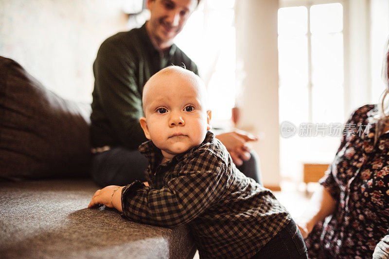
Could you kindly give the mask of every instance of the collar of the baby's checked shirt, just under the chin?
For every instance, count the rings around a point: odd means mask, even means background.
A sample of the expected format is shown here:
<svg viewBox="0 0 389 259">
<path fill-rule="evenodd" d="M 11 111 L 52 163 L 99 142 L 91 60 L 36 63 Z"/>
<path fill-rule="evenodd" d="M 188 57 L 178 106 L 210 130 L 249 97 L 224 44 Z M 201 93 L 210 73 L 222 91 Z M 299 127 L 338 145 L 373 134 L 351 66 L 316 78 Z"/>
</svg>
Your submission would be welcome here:
<svg viewBox="0 0 389 259">
<path fill-rule="evenodd" d="M 207 131 L 207 134 L 205 135 L 204 141 L 199 145 L 202 146 L 205 143 L 210 143 L 215 138 L 215 135 L 211 131 Z M 181 161 L 185 159 L 186 157 L 190 156 L 199 146 L 192 147 L 191 149 L 187 150 L 184 153 L 176 155 L 172 160 L 162 164 L 163 166 L 167 166 L 171 164 L 172 162 L 177 163 L 178 161 Z M 141 144 L 139 146 L 139 152 L 143 156 L 145 156 L 149 163 L 150 163 L 150 169 L 152 172 L 155 172 L 155 169 L 159 166 L 160 161 L 162 160 L 162 152 L 161 150 L 154 145 L 154 143 L 149 140 Z"/>
</svg>

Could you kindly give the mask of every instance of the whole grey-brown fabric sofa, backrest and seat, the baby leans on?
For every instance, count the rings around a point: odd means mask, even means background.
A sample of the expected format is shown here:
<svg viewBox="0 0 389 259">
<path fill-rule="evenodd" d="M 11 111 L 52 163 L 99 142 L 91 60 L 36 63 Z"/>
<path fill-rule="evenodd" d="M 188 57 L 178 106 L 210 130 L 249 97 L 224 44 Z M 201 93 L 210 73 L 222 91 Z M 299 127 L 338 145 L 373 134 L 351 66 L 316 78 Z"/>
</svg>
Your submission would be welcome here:
<svg viewBox="0 0 389 259">
<path fill-rule="evenodd" d="M 193 258 L 186 226 L 131 222 L 87 205 L 90 107 L 0 57 L 0 257 Z"/>
</svg>

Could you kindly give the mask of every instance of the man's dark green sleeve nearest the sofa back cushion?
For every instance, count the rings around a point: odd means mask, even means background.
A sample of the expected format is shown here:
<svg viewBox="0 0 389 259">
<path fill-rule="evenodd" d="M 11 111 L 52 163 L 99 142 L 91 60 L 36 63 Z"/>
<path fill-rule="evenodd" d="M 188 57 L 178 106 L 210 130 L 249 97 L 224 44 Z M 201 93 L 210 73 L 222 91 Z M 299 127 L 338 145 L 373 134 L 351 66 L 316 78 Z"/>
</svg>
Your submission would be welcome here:
<svg viewBox="0 0 389 259">
<path fill-rule="evenodd" d="M 100 104 L 119 140 L 131 149 L 146 141 L 139 123 L 143 111 L 135 70 L 131 57 L 109 41 L 101 45 L 93 65 Z"/>
</svg>

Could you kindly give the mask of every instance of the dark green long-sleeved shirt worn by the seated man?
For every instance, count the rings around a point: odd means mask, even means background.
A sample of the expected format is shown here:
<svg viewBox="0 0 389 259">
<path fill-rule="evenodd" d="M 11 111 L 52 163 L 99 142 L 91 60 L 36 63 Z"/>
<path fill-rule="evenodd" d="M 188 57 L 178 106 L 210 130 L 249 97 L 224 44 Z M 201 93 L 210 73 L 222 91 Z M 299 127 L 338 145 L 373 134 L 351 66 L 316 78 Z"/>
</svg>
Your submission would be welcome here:
<svg viewBox="0 0 389 259">
<path fill-rule="evenodd" d="M 107 38 L 93 64 L 95 77 L 90 115 L 91 144 L 138 149 L 146 141 L 139 119 L 142 91 L 160 69 L 184 64 L 198 74 L 195 63 L 172 45 L 163 55 L 152 44 L 146 26 Z"/>
</svg>

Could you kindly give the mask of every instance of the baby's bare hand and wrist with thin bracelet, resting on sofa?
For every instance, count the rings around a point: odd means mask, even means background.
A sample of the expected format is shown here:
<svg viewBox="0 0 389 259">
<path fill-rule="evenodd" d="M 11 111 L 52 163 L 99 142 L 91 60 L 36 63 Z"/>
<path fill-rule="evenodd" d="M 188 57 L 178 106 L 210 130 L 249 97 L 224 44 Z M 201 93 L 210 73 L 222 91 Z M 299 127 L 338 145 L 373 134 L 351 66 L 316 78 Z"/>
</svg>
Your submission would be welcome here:
<svg viewBox="0 0 389 259">
<path fill-rule="evenodd" d="M 108 208 L 122 210 L 122 189 L 124 186 L 109 185 L 101 190 L 97 190 L 90 201 L 88 208 L 98 205 L 106 205 Z"/>
</svg>

